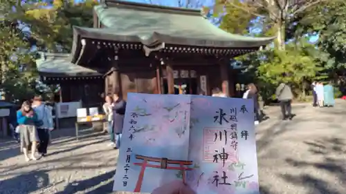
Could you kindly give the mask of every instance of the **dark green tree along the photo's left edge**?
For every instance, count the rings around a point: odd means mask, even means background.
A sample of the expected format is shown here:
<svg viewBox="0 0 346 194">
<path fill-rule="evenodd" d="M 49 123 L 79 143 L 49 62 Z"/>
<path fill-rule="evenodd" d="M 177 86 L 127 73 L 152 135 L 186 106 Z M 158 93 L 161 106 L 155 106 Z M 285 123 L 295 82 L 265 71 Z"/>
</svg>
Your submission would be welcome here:
<svg viewBox="0 0 346 194">
<path fill-rule="evenodd" d="M 0 3 L 0 14 L 3 16 L 0 21 L 0 90 L 1 97 L 8 101 L 17 101 L 30 95 L 35 82 L 35 53 L 30 52 L 32 42 L 25 26 L 10 17 L 15 12 L 14 6 L 17 6 L 17 1 Z"/>
</svg>

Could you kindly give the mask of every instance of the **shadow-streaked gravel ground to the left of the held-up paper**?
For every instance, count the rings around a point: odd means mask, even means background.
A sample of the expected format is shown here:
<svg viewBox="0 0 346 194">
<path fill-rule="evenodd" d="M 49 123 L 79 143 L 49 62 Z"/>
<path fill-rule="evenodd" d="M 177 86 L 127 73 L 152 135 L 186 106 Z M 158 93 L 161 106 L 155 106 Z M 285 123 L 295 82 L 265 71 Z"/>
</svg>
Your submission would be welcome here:
<svg viewBox="0 0 346 194">
<path fill-rule="evenodd" d="M 0 142 L 0 194 L 111 193 L 118 151 L 108 146 L 107 135 L 76 141 L 74 130 L 64 129 L 53 137 L 48 156 L 29 163 L 18 144 Z"/>
</svg>

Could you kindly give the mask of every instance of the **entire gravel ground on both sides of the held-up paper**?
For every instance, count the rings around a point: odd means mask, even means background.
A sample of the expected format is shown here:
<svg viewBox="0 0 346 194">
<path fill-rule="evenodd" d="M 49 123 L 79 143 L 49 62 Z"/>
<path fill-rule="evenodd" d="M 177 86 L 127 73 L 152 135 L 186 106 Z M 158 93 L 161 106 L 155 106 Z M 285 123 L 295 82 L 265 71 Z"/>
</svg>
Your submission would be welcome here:
<svg viewBox="0 0 346 194">
<path fill-rule="evenodd" d="M 293 121 L 282 122 L 277 107 L 257 126 L 262 194 L 346 193 L 346 101 L 336 108 L 296 104 Z M 0 139 L 0 194 L 112 193 L 118 151 L 107 135 L 73 129 L 53 132 L 49 155 L 26 163 L 19 145 Z M 226 193 L 225 193 L 226 194 Z"/>
</svg>

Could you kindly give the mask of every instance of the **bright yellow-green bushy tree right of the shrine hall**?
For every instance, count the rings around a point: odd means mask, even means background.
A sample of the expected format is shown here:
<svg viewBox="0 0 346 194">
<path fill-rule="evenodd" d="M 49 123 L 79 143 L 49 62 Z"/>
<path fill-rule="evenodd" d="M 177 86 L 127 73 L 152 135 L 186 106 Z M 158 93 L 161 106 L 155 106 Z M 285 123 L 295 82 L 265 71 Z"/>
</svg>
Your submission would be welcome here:
<svg viewBox="0 0 346 194">
<path fill-rule="evenodd" d="M 289 82 L 293 85 L 293 92 L 297 97 L 304 98 L 307 86 L 311 79 L 325 79 L 321 73 L 324 69 L 317 61 L 320 51 L 311 45 L 307 39 L 287 44 L 286 50 L 266 50 L 260 52 L 262 60 L 257 67 L 257 80 L 260 84 L 270 88 L 274 93 L 275 87 L 280 82 Z M 283 74 L 289 76 L 282 76 Z M 271 87 L 273 86 L 273 87 Z"/>
</svg>

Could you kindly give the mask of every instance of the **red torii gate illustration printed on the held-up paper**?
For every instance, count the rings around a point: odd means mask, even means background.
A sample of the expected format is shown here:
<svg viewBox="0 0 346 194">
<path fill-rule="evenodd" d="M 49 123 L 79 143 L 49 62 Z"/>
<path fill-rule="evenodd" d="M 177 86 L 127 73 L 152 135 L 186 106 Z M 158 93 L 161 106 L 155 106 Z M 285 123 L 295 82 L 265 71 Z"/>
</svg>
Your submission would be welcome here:
<svg viewBox="0 0 346 194">
<path fill-rule="evenodd" d="M 134 192 L 138 192 L 138 193 L 140 192 L 140 188 L 142 187 L 144 171 L 145 171 L 145 168 L 147 167 L 182 171 L 183 182 L 185 182 L 185 171 L 192 171 L 193 169 L 193 168 L 185 167 L 185 165 L 192 165 L 192 161 L 172 160 L 172 159 L 167 159 L 165 157 L 163 158 L 147 157 L 144 155 L 136 155 L 136 159 L 143 159 L 142 163 L 134 163 L 134 165 L 142 166 L 142 168 L 140 168 L 140 173 L 138 175 L 136 188 L 134 188 Z M 148 162 L 160 162 L 161 165 L 147 164 Z M 179 164 L 179 167 L 167 166 L 167 164 Z"/>
</svg>

